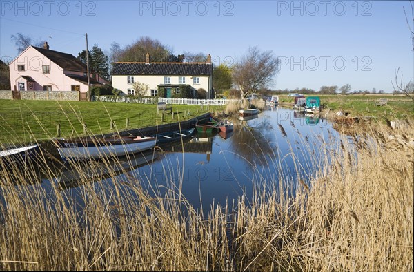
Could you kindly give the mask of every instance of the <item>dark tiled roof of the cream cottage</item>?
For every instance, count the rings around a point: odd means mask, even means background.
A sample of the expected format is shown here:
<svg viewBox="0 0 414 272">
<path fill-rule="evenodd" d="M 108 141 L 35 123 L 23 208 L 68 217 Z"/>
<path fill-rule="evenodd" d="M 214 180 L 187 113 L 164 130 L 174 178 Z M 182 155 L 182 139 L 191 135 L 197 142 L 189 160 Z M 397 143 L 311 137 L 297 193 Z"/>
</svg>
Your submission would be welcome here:
<svg viewBox="0 0 414 272">
<path fill-rule="evenodd" d="M 146 76 L 210 76 L 211 63 L 113 63 L 114 75 Z"/>
</svg>

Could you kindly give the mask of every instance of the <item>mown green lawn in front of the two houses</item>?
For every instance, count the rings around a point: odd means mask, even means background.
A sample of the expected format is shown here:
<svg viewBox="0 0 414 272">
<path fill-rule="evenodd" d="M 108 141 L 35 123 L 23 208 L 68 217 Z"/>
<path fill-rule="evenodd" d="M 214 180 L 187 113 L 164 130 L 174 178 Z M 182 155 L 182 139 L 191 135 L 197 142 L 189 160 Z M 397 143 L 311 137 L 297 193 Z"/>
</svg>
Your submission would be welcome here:
<svg viewBox="0 0 414 272">
<path fill-rule="evenodd" d="M 188 120 L 221 106 L 172 105 L 172 114 L 157 114 L 156 105 L 72 101 L 0 100 L 0 143 L 27 143 L 83 134 L 104 134 L 152 125 Z M 128 119 L 128 123 L 127 123 Z M 113 129 L 111 129 L 111 121 Z"/>
</svg>

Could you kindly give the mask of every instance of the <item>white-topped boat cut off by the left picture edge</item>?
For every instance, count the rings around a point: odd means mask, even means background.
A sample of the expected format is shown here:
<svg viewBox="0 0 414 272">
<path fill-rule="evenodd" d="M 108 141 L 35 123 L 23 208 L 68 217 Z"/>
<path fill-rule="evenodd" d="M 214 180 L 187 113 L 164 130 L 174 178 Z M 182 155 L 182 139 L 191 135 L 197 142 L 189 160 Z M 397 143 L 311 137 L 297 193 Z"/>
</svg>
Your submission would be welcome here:
<svg viewBox="0 0 414 272">
<path fill-rule="evenodd" d="M 34 160 L 40 151 L 40 145 L 28 145 L 25 147 L 13 147 L 0 151 L 0 169 L 11 163 L 24 165 L 28 160 Z"/>
</svg>

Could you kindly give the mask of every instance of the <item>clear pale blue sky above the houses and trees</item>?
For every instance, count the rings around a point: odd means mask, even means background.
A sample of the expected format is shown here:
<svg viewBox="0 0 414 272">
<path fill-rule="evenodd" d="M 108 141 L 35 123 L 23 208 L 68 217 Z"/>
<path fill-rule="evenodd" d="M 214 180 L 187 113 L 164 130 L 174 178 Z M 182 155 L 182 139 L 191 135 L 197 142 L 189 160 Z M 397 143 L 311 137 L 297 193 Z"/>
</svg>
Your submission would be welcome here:
<svg viewBox="0 0 414 272">
<path fill-rule="evenodd" d="M 414 78 L 414 52 L 403 6 L 408 1 L 4 1 L 0 57 L 14 59 L 12 34 L 46 40 L 77 56 L 94 43 L 109 52 L 140 36 L 175 54 L 204 52 L 213 63 L 234 63 L 249 46 L 281 60 L 272 89 L 351 84 L 352 90 L 391 92 L 400 67 Z M 414 5 L 414 4 L 413 4 Z M 412 20 L 411 20 L 411 23 Z M 413 28 L 413 25 L 411 25 Z"/>
</svg>

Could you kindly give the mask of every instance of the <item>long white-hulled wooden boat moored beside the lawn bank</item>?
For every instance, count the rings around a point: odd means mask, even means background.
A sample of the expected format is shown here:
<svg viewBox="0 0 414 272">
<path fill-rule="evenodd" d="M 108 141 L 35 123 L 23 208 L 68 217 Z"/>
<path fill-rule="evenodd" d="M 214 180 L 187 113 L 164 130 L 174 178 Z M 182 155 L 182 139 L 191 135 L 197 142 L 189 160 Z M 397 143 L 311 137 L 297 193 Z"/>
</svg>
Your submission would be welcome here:
<svg viewBox="0 0 414 272">
<path fill-rule="evenodd" d="M 63 160 L 126 156 L 155 147 L 157 138 L 141 136 L 86 136 L 56 139 L 57 151 Z"/>
</svg>

